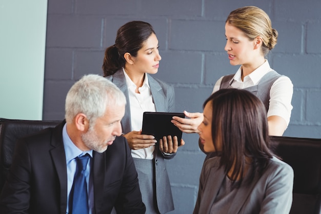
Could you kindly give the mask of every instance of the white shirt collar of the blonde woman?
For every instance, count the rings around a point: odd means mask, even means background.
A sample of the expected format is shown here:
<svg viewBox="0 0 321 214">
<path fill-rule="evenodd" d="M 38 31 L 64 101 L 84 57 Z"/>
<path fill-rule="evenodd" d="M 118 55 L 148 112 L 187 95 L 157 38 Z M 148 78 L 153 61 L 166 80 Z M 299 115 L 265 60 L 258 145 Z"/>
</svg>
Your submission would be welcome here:
<svg viewBox="0 0 321 214">
<path fill-rule="evenodd" d="M 257 85 L 257 83 L 262 79 L 262 77 L 271 70 L 272 69 L 270 67 L 269 62 L 265 60 L 265 63 L 263 63 L 258 68 L 256 68 L 252 73 L 247 75 L 246 78 L 249 78 L 254 85 Z M 230 84 L 232 83 L 233 80 L 237 82 L 243 82 L 241 79 L 241 75 L 242 75 L 242 66 L 238 68 Z"/>
</svg>

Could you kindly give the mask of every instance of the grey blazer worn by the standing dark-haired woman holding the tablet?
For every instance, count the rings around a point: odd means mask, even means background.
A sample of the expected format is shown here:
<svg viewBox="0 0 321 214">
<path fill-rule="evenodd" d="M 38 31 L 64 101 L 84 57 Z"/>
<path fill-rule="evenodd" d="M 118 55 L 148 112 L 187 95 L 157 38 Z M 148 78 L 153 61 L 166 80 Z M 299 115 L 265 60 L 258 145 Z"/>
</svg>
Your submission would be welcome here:
<svg viewBox="0 0 321 214">
<path fill-rule="evenodd" d="M 175 92 L 174 87 L 153 78 L 148 75 L 148 84 L 152 93 L 153 102 L 156 107 L 156 111 L 162 112 L 174 112 L 175 111 Z M 125 116 L 122 119 L 122 128 L 124 133 L 132 131 L 131 128 L 131 115 L 130 115 L 130 102 L 128 89 L 126 84 L 125 75 L 123 69 L 119 69 L 113 75 L 106 77 L 108 80 L 113 82 L 119 89 L 123 91 L 126 96 L 127 105 L 125 107 Z M 160 213 L 166 213 L 174 209 L 174 203 L 172 198 L 172 191 L 170 182 L 165 166 L 164 159 L 172 159 L 176 153 L 172 155 L 164 155 L 163 152 L 158 152 L 154 158 L 156 180 L 156 202 L 158 211 Z"/>
</svg>

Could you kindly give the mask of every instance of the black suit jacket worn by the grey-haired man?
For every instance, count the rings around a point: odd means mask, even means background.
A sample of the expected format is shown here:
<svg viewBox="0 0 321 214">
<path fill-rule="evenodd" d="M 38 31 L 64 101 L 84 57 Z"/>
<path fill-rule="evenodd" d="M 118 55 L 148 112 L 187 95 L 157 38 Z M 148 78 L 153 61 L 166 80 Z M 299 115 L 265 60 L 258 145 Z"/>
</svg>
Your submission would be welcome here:
<svg viewBox="0 0 321 214">
<path fill-rule="evenodd" d="M 17 142 L 0 197 L 1 213 L 66 213 L 64 123 Z M 117 137 L 103 153 L 93 151 L 95 213 L 145 213 L 131 150 Z"/>
</svg>

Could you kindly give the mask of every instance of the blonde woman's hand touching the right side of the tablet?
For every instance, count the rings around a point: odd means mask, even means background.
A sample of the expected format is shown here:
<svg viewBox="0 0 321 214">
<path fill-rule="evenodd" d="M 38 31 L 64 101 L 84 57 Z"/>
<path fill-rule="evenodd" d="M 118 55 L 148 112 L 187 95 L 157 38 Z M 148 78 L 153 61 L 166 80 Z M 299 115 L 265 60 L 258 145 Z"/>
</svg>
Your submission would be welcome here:
<svg viewBox="0 0 321 214">
<path fill-rule="evenodd" d="M 190 113 L 184 111 L 185 116 L 188 118 L 180 118 L 179 116 L 173 116 L 171 121 L 179 130 L 185 133 L 197 133 L 199 130 L 197 127 L 203 121 L 203 113 L 195 112 Z"/>
</svg>

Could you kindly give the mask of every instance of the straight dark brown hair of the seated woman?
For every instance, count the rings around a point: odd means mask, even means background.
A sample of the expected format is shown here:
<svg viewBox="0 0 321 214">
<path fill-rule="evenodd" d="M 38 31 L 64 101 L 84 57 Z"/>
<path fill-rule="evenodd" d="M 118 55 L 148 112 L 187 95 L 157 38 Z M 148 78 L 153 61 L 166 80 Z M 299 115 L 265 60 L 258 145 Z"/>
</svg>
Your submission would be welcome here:
<svg viewBox="0 0 321 214">
<path fill-rule="evenodd" d="M 254 94 L 242 89 L 221 89 L 213 93 L 204 103 L 212 107 L 212 139 L 214 148 L 222 145 L 220 167 L 228 173 L 232 167 L 231 180 L 238 186 L 245 174 L 245 164 L 262 173 L 272 158 L 269 149 L 268 122 L 265 106 Z M 251 158 L 246 163 L 245 157 Z"/>
</svg>

